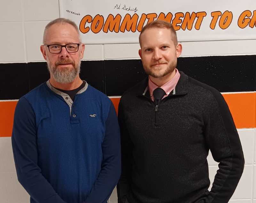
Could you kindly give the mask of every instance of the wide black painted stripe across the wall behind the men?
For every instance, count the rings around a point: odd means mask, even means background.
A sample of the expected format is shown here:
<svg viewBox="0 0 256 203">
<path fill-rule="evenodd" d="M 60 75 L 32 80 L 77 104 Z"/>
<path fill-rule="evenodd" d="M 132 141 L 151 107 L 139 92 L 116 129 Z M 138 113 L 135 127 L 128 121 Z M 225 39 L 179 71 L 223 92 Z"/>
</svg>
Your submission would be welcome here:
<svg viewBox="0 0 256 203">
<path fill-rule="evenodd" d="M 256 55 L 186 57 L 178 69 L 220 92 L 255 91 Z M 80 77 L 108 96 L 120 96 L 146 74 L 141 61 L 82 61 Z M 46 62 L 0 64 L 0 100 L 19 99 L 49 79 Z"/>
</svg>

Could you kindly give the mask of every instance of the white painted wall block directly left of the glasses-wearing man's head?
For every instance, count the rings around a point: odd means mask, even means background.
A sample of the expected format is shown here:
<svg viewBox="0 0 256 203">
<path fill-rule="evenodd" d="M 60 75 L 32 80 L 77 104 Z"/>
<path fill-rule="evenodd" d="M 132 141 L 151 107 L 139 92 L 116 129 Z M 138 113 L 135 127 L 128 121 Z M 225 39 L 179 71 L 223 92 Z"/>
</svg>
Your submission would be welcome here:
<svg viewBox="0 0 256 203">
<path fill-rule="evenodd" d="M 43 44 L 44 27 L 48 22 L 25 22 L 26 45 L 28 62 L 44 61 L 40 51 Z"/>
</svg>

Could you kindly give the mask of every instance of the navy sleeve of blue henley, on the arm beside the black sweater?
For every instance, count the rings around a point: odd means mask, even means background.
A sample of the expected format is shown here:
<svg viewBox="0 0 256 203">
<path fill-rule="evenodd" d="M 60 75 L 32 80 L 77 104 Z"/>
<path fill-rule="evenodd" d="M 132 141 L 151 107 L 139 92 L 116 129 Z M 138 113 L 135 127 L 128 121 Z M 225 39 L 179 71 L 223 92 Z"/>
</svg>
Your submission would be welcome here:
<svg viewBox="0 0 256 203">
<path fill-rule="evenodd" d="M 86 203 L 105 203 L 110 197 L 121 173 L 120 132 L 116 111 L 111 103 L 106 120 L 106 133 L 102 143 L 103 160 L 100 174 Z"/>
</svg>

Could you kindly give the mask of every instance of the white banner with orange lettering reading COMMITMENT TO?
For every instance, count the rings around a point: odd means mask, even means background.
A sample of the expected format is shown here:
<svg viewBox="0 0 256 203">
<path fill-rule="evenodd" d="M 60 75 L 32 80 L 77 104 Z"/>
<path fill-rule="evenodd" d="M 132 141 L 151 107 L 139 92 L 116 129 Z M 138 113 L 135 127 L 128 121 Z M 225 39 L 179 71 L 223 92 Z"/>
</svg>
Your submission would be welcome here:
<svg viewBox="0 0 256 203">
<path fill-rule="evenodd" d="M 60 0 L 60 17 L 76 22 L 86 44 L 138 43 L 156 19 L 171 22 L 179 42 L 256 39 L 256 0 Z"/>
</svg>

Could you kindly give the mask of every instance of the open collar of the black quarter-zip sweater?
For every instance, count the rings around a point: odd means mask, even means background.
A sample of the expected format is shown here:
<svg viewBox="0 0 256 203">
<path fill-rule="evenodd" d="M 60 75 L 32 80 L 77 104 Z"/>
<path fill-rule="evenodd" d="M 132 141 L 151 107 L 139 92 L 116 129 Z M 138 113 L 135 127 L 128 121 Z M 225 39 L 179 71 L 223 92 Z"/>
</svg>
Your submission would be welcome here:
<svg viewBox="0 0 256 203">
<path fill-rule="evenodd" d="M 188 75 L 180 71 L 180 79 L 175 87 L 175 95 L 187 94 L 187 83 L 188 83 Z M 173 95 L 172 92 L 169 94 L 169 96 Z M 148 93 L 148 76 L 143 81 L 140 82 L 137 95 L 150 97 Z"/>
</svg>

